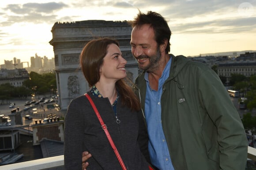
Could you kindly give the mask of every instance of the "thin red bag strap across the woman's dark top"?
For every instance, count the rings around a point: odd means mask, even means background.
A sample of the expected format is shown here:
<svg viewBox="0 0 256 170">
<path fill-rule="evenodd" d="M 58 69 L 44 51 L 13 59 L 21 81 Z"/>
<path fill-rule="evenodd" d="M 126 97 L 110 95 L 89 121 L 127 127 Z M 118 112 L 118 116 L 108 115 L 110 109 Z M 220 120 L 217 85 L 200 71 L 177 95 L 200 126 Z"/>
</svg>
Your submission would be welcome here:
<svg viewBox="0 0 256 170">
<path fill-rule="evenodd" d="M 115 146 L 115 144 L 114 144 L 114 142 L 112 140 L 112 137 L 109 134 L 108 127 L 103 122 L 102 117 L 101 117 L 100 113 L 98 112 L 97 107 L 95 106 L 94 102 L 92 101 L 92 99 L 90 98 L 90 96 L 87 93 L 85 93 L 84 96 L 87 97 L 87 99 L 89 100 L 93 110 L 95 111 L 95 114 L 97 115 L 97 117 L 98 117 L 98 119 L 99 119 L 99 121 L 100 121 L 100 123 L 102 125 L 102 129 L 104 130 L 104 132 L 105 132 L 105 134 L 106 134 L 106 136 L 107 136 L 107 138 L 109 140 L 109 143 L 110 143 L 111 147 L 113 148 L 113 150 L 114 150 L 114 152 L 115 152 L 115 154 L 117 156 L 117 159 L 118 159 L 120 165 L 122 166 L 123 170 L 126 170 L 126 167 L 124 166 L 124 162 L 123 162 L 121 156 L 119 155 L 119 152 L 117 151 L 117 148 L 116 148 L 116 146 Z"/>
</svg>

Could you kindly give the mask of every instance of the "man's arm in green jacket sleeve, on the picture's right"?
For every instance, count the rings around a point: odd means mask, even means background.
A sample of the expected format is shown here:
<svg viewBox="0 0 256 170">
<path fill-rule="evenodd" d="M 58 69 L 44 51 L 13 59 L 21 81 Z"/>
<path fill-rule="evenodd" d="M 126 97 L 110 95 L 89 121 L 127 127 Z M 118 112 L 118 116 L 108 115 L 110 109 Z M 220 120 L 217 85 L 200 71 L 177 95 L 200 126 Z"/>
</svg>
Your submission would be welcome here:
<svg viewBox="0 0 256 170">
<path fill-rule="evenodd" d="M 248 143 L 241 118 L 226 88 L 212 70 L 206 70 L 199 81 L 203 104 L 218 131 L 220 168 L 245 169 Z"/>
</svg>

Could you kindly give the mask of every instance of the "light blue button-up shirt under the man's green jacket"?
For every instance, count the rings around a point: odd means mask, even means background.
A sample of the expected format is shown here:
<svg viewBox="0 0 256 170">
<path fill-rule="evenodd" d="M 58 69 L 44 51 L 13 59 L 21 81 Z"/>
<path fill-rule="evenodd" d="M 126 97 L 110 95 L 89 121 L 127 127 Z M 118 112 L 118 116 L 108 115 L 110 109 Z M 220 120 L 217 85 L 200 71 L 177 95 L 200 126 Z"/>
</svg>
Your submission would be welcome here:
<svg viewBox="0 0 256 170">
<path fill-rule="evenodd" d="M 158 91 L 151 89 L 148 81 L 148 73 L 145 74 L 147 92 L 145 100 L 145 117 L 148 132 L 148 151 L 151 163 L 160 170 L 174 170 L 166 138 L 162 129 L 161 96 L 162 86 L 169 77 L 172 59 L 170 58 L 158 80 Z"/>
</svg>

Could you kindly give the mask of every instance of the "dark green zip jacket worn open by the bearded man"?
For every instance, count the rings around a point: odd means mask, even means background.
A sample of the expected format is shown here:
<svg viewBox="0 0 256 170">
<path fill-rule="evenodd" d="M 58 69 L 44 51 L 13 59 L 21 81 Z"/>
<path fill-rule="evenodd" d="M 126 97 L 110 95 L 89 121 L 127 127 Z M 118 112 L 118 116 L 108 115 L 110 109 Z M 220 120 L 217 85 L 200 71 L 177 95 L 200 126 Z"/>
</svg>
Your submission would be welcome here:
<svg viewBox="0 0 256 170">
<path fill-rule="evenodd" d="M 144 75 L 145 71 L 133 86 L 143 110 Z M 162 128 L 175 170 L 245 170 L 245 130 L 213 70 L 172 55 L 169 78 L 162 89 Z"/>
</svg>

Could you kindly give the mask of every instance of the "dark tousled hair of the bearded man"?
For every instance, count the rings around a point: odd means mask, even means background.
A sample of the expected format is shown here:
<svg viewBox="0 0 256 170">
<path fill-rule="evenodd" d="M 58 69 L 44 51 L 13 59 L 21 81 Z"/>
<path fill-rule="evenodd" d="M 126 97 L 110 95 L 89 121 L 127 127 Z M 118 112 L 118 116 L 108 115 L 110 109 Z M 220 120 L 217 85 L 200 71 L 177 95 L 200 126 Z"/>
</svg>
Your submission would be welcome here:
<svg viewBox="0 0 256 170">
<path fill-rule="evenodd" d="M 135 26 L 140 27 L 144 24 L 149 24 L 154 30 L 155 41 L 158 45 L 163 44 L 167 40 L 166 53 L 170 52 L 170 37 L 171 30 L 167 24 L 165 18 L 157 12 L 148 11 L 147 14 L 139 11 L 139 14 L 134 18 L 133 21 L 129 22 L 132 25 L 132 28 Z"/>
</svg>

